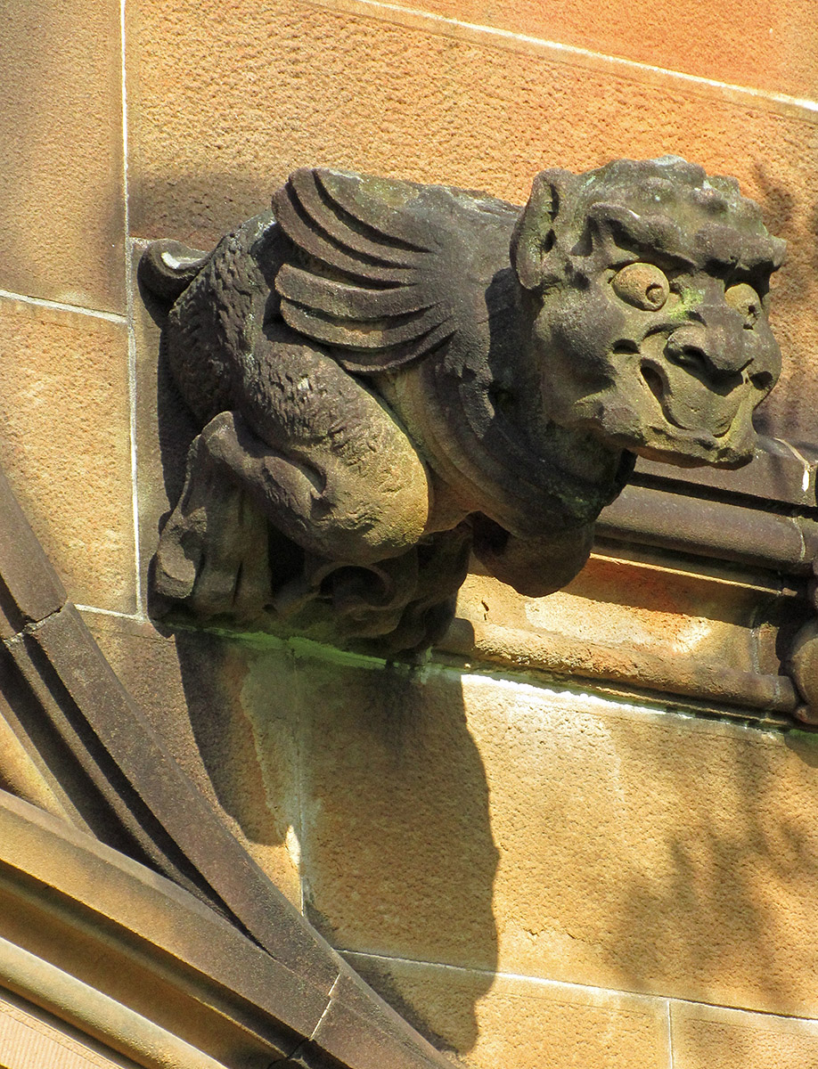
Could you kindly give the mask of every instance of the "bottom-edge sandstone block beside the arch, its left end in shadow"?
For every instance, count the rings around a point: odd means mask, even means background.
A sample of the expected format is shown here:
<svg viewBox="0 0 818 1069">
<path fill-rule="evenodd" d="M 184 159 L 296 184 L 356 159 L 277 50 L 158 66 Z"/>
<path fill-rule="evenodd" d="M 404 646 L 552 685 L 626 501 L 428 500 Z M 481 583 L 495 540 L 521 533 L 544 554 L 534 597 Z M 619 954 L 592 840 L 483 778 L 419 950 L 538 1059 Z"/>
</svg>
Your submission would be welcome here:
<svg viewBox="0 0 818 1069">
<path fill-rule="evenodd" d="M 436 1047 L 473 1069 L 666 1069 L 663 1000 L 392 959 L 350 961 Z M 755 1069 L 755 1067 L 754 1067 Z"/>
</svg>

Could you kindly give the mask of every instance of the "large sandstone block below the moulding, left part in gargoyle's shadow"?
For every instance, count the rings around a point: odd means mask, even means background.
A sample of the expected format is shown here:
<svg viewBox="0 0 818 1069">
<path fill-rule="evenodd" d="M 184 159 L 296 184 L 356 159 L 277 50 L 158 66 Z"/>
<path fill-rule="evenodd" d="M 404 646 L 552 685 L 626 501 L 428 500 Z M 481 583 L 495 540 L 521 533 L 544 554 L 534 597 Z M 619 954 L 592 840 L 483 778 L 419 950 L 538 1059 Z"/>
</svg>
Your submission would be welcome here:
<svg viewBox="0 0 818 1069">
<path fill-rule="evenodd" d="M 292 670 L 307 902 L 337 945 L 818 1012 L 814 737 L 433 669 Z"/>
</svg>

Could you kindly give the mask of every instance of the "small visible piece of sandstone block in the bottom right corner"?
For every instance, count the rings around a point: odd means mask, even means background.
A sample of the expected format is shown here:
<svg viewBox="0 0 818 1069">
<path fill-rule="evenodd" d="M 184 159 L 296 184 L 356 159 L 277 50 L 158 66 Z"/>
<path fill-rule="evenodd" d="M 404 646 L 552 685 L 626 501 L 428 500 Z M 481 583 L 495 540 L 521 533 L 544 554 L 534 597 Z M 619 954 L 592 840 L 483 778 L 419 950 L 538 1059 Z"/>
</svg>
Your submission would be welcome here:
<svg viewBox="0 0 818 1069">
<path fill-rule="evenodd" d="M 672 1003 L 674 1069 L 816 1069 L 818 1021 Z"/>
</svg>

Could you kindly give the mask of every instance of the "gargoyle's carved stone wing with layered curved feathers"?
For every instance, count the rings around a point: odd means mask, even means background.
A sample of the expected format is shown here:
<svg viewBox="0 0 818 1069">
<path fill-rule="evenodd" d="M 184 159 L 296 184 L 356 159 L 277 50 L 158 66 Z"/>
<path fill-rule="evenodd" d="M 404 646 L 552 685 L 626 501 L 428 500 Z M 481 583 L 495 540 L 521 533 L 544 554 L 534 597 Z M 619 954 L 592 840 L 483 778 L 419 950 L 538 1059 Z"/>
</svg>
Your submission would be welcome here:
<svg viewBox="0 0 818 1069">
<path fill-rule="evenodd" d="M 520 211 L 485 193 L 318 168 L 295 171 L 273 210 L 292 244 L 275 281 L 282 319 L 358 374 L 482 336 L 485 290 L 508 266 Z"/>
</svg>

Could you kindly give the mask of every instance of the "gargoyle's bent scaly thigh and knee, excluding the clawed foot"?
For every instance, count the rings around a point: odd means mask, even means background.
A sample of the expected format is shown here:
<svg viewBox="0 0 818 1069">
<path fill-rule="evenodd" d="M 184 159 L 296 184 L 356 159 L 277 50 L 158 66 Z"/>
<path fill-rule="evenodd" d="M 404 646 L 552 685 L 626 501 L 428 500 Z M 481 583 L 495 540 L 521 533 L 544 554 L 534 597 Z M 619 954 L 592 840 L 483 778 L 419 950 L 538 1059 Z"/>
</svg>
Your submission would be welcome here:
<svg viewBox="0 0 818 1069">
<path fill-rule="evenodd" d="M 429 475 L 384 402 L 307 346 L 277 342 L 257 357 L 241 413 L 202 431 L 213 460 L 307 553 L 370 564 L 415 545 Z"/>
</svg>

